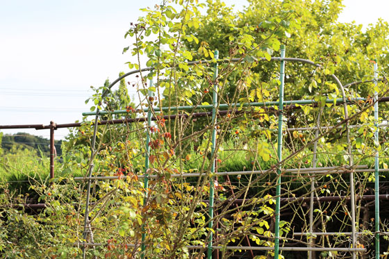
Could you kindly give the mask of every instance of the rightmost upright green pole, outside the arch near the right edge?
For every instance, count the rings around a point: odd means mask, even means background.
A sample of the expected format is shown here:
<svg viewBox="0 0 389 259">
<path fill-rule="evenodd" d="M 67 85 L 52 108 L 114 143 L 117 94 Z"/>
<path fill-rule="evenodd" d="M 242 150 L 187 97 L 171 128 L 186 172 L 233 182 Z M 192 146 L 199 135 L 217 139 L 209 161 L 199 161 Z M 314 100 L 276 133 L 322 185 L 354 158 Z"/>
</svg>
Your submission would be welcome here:
<svg viewBox="0 0 389 259">
<path fill-rule="evenodd" d="M 374 60 L 374 84 L 377 85 L 378 71 L 377 71 L 377 60 Z M 379 147 L 378 140 L 378 93 L 374 91 L 374 125 L 376 131 L 374 132 L 374 142 L 376 147 Z M 379 259 L 379 152 L 376 150 L 376 156 L 374 158 L 374 194 L 375 194 L 375 237 L 376 237 L 376 259 Z"/>
</svg>

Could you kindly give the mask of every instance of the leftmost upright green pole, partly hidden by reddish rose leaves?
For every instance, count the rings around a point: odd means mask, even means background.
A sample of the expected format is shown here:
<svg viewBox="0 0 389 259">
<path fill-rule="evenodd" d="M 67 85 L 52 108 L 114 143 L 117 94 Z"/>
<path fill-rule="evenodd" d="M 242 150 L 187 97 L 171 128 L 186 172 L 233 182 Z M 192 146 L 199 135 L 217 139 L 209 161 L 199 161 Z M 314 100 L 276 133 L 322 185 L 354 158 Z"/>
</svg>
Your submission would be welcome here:
<svg viewBox="0 0 389 259">
<path fill-rule="evenodd" d="M 150 79 L 150 87 L 153 86 L 153 79 Z M 149 91 L 149 97 L 154 97 L 154 92 Z M 150 101 L 150 104 L 153 103 Z M 146 205 L 147 202 L 147 188 L 149 187 L 149 177 L 147 174 L 147 170 L 149 169 L 149 156 L 150 156 L 150 126 L 151 126 L 151 109 L 147 112 L 147 135 L 146 135 L 146 157 L 144 159 L 144 190 L 145 190 L 145 196 L 143 199 L 143 206 Z M 146 240 L 146 233 L 144 233 L 144 225 L 142 226 L 142 253 L 140 254 L 140 258 L 144 258 L 144 251 L 146 250 L 146 245 L 144 244 L 144 241 Z"/>
</svg>

